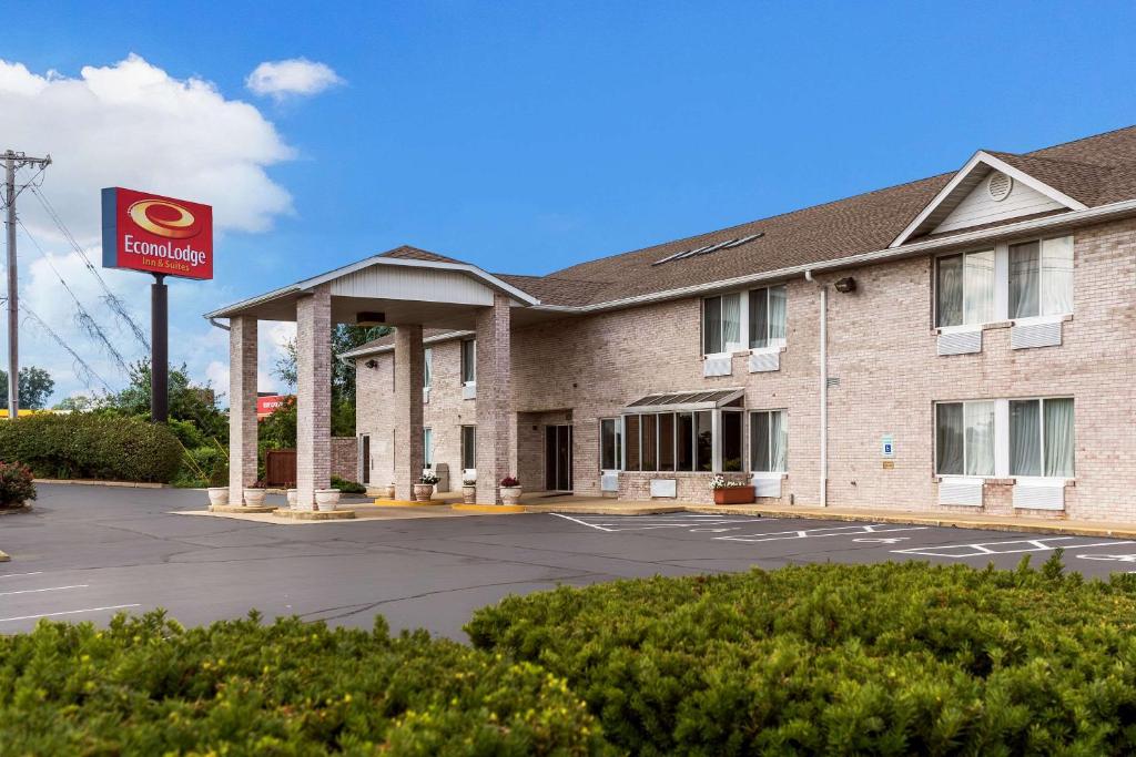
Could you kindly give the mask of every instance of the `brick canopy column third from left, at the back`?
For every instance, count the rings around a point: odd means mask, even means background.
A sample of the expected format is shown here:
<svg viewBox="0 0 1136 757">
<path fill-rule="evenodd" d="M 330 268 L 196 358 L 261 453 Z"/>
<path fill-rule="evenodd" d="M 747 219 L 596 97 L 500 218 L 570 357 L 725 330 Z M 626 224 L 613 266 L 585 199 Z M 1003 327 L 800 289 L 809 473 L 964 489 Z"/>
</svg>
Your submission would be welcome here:
<svg viewBox="0 0 1136 757">
<path fill-rule="evenodd" d="M 414 485 L 423 473 L 423 381 L 426 380 L 423 327 L 400 326 L 394 331 L 394 496 L 414 499 Z"/>
</svg>

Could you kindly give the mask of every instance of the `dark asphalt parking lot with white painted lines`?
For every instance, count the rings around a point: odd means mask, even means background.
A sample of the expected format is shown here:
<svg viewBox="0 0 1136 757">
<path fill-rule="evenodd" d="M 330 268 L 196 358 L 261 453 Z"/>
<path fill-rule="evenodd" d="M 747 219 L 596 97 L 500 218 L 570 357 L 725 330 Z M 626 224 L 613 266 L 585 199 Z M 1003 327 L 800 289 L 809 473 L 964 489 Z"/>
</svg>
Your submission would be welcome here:
<svg viewBox="0 0 1136 757">
<path fill-rule="evenodd" d="M 1089 577 L 1136 571 L 1136 541 L 925 525 L 668 515 L 486 515 L 278 525 L 174 514 L 204 494 L 41 485 L 0 518 L 0 633 L 165 607 L 185 624 L 296 614 L 465 638 L 477 607 L 557 584 L 815 562 L 1013 567 L 1064 550 Z"/>
</svg>

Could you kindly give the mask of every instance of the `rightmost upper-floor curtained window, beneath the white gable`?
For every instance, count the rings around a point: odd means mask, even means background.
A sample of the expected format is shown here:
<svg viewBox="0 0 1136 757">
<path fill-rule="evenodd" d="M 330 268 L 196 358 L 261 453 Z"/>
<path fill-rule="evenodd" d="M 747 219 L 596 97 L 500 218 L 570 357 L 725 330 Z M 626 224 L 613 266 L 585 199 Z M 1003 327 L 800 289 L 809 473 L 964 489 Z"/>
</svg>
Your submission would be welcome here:
<svg viewBox="0 0 1136 757">
<path fill-rule="evenodd" d="M 1072 237 L 1010 245 L 1010 318 L 1072 312 Z"/>
</svg>

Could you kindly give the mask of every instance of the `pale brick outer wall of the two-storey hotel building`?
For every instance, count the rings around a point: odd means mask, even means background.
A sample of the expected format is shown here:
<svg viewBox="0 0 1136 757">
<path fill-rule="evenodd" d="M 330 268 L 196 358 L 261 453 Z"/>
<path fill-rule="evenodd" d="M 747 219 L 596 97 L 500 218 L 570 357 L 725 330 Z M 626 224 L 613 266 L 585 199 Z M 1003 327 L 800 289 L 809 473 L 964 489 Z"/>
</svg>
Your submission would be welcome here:
<svg viewBox="0 0 1136 757">
<path fill-rule="evenodd" d="M 936 504 L 934 403 L 1061 395 L 1072 396 L 1076 409 L 1076 480 L 1067 488 L 1064 515 L 1136 520 L 1130 497 L 1136 486 L 1136 221 L 1084 227 L 1072 235 L 1075 312 L 1062 325 L 1062 344 L 1053 347 L 1011 350 L 1010 325 L 994 323 L 984 330 L 980 353 L 937 355 L 929 255 L 818 276 L 815 283 L 788 280 L 787 344 L 779 370 L 771 372 L 749 373 L 740 353 L 732 376 L 703 378 L 701 301 L 695 297 L 515 327 L 509 412 L 516 415 L 509 421 L 508 454 L 527 489 L 543 488 L 543 426 L 570 421 L 575 491 L 599 495 L 600 419 L 651 393 L 743 387 L 746 410 L 787 411 L 783 501 L 819 504 L 819 287 L 827 286 L 828 376 L 838 380 L 828 394 L 829 505 L 954 510 Z M 846 276 L 855 278 L 855 292 L 834 291 L 832 283 Z M 482 364 L 478 398 L 461 399 L 459 343 L 429 346 L 434 381 L 424 424 L 434 432 L 435 461 L 460 472 L 460 426 L 481 426 L 486 418 Z M 484 344 L 478 352 L 487 352 Z M 366 368 L 371 359 L 376 367 Z M 379 485 L 384 468 L 390 470 L 395 427 L 391 362 L 390 352 L 358 361 L 358 428 L 371 435 L 371 481 Z M 884 436 L 895 443 L 892 468 L 883 465 Z M 711 498 L 708 474 L 659 477 L 678 479 L 679 499 Z M 651 478 L 623 473 L 620 497 L 645 498 Z M 1013 512 L 1011 490 L 1008 480 L 987 481 L 983 512 Z"/>
</svg>

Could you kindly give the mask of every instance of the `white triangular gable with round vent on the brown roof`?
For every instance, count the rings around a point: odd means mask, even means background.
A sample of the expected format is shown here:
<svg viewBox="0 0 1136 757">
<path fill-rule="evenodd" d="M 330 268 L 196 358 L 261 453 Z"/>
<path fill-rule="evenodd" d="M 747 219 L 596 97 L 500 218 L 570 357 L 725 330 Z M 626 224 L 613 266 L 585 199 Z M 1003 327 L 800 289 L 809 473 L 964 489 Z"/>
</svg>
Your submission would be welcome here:
<svg viewBox="0 0 1136 757">
<path fill-rule="evenodd" d="M 984 150 L 976 152 L 889 246 L 897 247 L 928 234 L 958 232 L 1038 213 L 1086 209 L 1079 200 L 1006 159 L 1018 161 L 1017 155 Z"/>
</svg>

